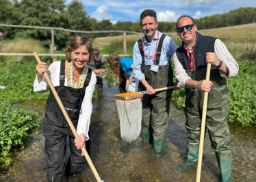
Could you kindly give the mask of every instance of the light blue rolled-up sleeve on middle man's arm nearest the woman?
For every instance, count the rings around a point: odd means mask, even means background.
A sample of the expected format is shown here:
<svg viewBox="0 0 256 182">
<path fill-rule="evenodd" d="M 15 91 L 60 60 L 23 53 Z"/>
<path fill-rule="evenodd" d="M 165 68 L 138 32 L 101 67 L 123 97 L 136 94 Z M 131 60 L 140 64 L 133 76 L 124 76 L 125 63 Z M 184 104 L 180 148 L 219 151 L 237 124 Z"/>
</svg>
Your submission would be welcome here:
<svg viewBox="0 0 256 182">
<path fill-rule="evenodd" d="M 140 55 L 138 42 L 136 42 L 133 47 L 133 72 L 134 72 L 134 77 L 137 80 L 141 80 L 145 78 L 144 74 L 141 71 L 141 64 L 142 64 L 142 57 Z"/>
</svg>

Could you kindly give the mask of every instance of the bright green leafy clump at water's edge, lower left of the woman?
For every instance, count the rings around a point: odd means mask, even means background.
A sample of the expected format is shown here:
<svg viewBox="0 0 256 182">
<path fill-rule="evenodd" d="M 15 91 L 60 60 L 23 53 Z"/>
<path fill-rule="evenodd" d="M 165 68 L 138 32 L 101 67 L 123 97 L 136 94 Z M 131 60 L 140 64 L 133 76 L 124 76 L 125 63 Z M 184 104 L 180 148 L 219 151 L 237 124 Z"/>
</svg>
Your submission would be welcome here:
<svg viewBox="0 0 256 182">
<path fill-rule="evenodd" d="M 25 140 L 36 131 L 40 119 L 27 108 L 11 109 L 10 104 L 0 103 L 0 162 L 9 165 L 12 162 L 12 149 L 24 147 Z"/>
</svg>

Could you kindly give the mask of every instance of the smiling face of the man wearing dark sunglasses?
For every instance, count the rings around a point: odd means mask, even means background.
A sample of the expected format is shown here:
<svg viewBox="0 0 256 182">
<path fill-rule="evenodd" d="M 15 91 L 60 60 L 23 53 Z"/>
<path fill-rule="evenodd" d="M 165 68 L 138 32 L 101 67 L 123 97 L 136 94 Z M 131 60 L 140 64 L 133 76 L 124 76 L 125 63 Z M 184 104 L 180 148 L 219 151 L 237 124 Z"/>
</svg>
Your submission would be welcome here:
<svg viewBox="0 0 256 182">
<path fill-rule="evenodd" d="M 188 17 L 183 17 L 177 23 L 177 27 L 183 27 L 185 25 L 190 25 L 190 24 L 193 24 L 192 20 Z M 184 27 L 184 31 L 181 33 L 177 31 L 177 34 L 179 35 L 181 40 L 185 43 L 185 45 L 190 47 L 191 44 L 194 45 L 194 42 L 196 42 L 196 31 L 197 31 L 197 27 L 196 25 L 194 25 L 194 27 L 192 27 L 190 31 L 188 31 Z"/>
</svg>

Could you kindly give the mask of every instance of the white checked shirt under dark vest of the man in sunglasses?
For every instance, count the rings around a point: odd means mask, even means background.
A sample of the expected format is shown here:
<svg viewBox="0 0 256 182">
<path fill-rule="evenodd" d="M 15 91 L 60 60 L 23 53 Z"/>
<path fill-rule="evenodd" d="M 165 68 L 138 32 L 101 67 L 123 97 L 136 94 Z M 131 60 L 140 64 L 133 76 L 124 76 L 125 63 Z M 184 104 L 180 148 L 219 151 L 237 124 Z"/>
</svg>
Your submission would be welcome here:
<svg viewBox="0 0 256 182">
<path fill-rule="evenodd" d="M 190 49 L 188 48 L 188 50 Z M 238 70 L 239 70 L 238 63 L 232 57 L 229 50 L 227 50 L 227 47 L 225 46 L 225 44 L 223 44 L 223 42 L 221 42 L 219 39 L 216 39 L 214 43 L 214 52 L 216 54 L 216 57 L 220 61 L 223 61 L 226 64 L 227 69 L 229 70 L 229 75 L 225 75 L 225 74 L 222 74 L 222 72 L 220 72 L 220 76 L 227 78 L 227 77 L 232 77 L 238 74 Z M 175 65 L 175 76 L 177 80 L 179 80 L 177 87 L 185 88 L 185 81 L 191 78 L 183 69 L 176 55 L 176 52 L 173 55 L 173 63 Z"/>
</svg>

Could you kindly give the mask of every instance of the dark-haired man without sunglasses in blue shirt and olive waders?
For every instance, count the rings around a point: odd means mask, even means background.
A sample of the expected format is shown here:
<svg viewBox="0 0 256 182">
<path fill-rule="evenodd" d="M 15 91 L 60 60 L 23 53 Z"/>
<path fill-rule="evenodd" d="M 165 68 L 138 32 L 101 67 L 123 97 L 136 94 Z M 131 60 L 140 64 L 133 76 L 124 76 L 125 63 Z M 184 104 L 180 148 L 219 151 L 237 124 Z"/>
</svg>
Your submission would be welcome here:
<svg viewBox="0 0 256 182">
<path fill-rule="evenodd" d="M 144 36 L 133 48 L 133 72 L 140 80 L 139 91 L 149 91 L 142 100 L 143 141 L 153 142 L 155 153 L 162 153 L 165 151 L 164 133 L 168 126 L 172 90 L 155 93 L 155 89 L 174 85 L 170 59 L 177 45 L 171 37 L 157 31 L 157 26 L 153 10 L 144 10 L 140 14 Z"/>
</svg>

